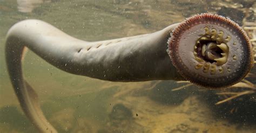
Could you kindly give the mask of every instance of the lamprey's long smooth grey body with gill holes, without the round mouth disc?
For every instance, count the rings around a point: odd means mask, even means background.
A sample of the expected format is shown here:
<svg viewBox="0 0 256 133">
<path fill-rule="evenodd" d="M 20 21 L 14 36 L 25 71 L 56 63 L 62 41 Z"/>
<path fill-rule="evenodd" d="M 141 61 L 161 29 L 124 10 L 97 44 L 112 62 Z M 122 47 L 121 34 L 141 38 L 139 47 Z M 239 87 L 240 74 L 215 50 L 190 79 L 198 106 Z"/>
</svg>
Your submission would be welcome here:
<svg viewBox="0 0 256 133">
<path fill-rule="evenodd" d="M 181 80 L 166 53 L 170 32 L 87 42 L 73 38 L 41 20 L 24 20 L 9 29 L 5 57 L 12 86 L 21 107 L 41 132 L 57 132 L 45 119 L 37 94 L 22 74 L 23 49 L 28 47 L 58 69 L 112 82 Z"/>
</svg>

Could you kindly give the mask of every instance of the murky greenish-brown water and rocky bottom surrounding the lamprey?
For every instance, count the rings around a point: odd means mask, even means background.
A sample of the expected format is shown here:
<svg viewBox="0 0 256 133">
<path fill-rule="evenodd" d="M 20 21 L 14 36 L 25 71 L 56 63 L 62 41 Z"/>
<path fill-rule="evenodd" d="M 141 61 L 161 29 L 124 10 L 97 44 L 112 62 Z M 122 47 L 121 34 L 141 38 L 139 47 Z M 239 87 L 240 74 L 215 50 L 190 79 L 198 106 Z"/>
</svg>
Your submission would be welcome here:
<svg viewBox="0 0 256 133">
<path fill-rule="evenodd" d="M 9 77 L 5 42 L 12 25 L 38 19 L 77 39 L 101 41 L 157 32 L 200 13 L 235 21 L 256 53 L 255 0 L 0 0 L 0 132 L 39 132 L 24 114 Z M 183 80 L 110 82 L 73 75 L 31 50 L 22 69 L 58 132 L 256 132 L 253 63 L 244 79 L 221 89 Z"/>
</svg>

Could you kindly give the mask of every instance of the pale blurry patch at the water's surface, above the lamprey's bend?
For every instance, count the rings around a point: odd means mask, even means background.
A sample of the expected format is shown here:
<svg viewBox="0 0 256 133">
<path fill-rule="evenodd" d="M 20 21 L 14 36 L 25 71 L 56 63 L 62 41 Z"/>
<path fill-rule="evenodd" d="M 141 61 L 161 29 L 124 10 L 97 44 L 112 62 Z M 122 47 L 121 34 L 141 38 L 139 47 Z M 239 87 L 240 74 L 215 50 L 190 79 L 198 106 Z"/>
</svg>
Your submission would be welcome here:
<svg viewBox="0 0 256 133">
<path fill-rule="evenodd" d="M 17 0 L 17 8 L 19 12 L 29 13 L 44 2 L 51 2 L 51 0 Z"/>
</svg>

